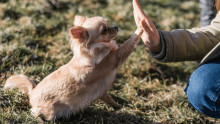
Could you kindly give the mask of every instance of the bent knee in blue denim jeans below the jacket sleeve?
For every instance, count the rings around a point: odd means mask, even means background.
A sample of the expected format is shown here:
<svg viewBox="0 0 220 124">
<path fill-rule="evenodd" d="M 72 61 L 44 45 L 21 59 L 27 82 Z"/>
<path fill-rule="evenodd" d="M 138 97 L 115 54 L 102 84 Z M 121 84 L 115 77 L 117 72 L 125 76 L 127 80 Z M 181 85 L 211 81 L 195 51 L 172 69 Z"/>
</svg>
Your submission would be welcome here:
<svg viewBox="0 0 220 124">
<path fill-rule="evenodd" d="M 190 105 L 199 112 L 220 118 L 220 59 L 196 69 L 185 92 Z"/>
</svg>

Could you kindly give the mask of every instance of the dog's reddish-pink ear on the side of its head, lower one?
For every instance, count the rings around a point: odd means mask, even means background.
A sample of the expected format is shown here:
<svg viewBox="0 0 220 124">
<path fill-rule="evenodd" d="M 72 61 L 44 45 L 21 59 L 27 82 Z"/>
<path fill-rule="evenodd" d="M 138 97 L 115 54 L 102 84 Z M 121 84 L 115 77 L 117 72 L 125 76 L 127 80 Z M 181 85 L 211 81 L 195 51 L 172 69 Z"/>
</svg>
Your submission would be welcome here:
<svg viewBox="0 0 220 124">
<path fill-rule="evenodd" d="M 88 38 L 88 30 L 81 26 L 73 27 L 70 29 L 70 34 L 72 38 L 75 39 L 86 39 Z"/>
</svg>

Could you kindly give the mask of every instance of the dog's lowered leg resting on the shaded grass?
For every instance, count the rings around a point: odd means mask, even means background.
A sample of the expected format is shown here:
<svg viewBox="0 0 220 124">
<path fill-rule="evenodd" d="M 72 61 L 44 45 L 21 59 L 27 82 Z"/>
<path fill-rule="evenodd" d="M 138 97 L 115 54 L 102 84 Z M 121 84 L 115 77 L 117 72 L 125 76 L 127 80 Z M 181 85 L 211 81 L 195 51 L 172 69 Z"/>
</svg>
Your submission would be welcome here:
<svg viewBox="0 0 220 124">
<path fill-rule="evenodd" d="M 117 109 L 121 108 L 121 105 L 116 103 L 107 92 L 102 96 L 101 100 L 111 105 L 113 108 L 117 108 Z"/>
</svg>

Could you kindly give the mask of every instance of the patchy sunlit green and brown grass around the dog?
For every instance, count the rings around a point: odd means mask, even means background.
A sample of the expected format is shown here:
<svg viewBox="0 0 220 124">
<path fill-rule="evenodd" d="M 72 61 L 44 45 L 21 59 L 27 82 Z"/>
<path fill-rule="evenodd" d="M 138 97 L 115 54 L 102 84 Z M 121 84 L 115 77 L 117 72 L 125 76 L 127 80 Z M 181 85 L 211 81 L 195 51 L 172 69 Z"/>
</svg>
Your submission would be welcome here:
<svg viewBox="0 0 220 124">
<path fill-rule="evenodd" d="M 199 26 L 197 0 L 139 0 L 157 29 L 170 31 Z M 73 53 L 68 30 L 75 15 L 102 16 L 117 25 L 122 44 L 135 31 L 131 0 L 0 0 L 0 123 L 40 123 L 30 112 L 28 97 L 3 91 L 5 80 L 25 74 L 39 83 L 67 63 Z M 140 124 L 220 123 L 189 106 L 184 93 L 197 62 L 160 63 L 139 42 L 123 64 L 109 91 L 123 108 L 100 100 L 69 119 L 46 123 Z"/>
</svg>

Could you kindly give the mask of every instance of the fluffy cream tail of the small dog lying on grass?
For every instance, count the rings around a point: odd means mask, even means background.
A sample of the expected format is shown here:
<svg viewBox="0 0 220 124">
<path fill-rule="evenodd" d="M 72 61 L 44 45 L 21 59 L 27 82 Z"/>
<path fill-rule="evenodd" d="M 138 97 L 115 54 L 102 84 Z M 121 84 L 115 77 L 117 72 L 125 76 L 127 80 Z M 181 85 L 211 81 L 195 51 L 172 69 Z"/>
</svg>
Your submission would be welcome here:
<svg viewBox="0 0 220 124">
<path fill-rule="evenodd" d="M 36 84 L 25 75 L 13 75 L 6 80 L 4 89 L 18 88 L 23 93 L 30 95 Z"/>
</svg>

